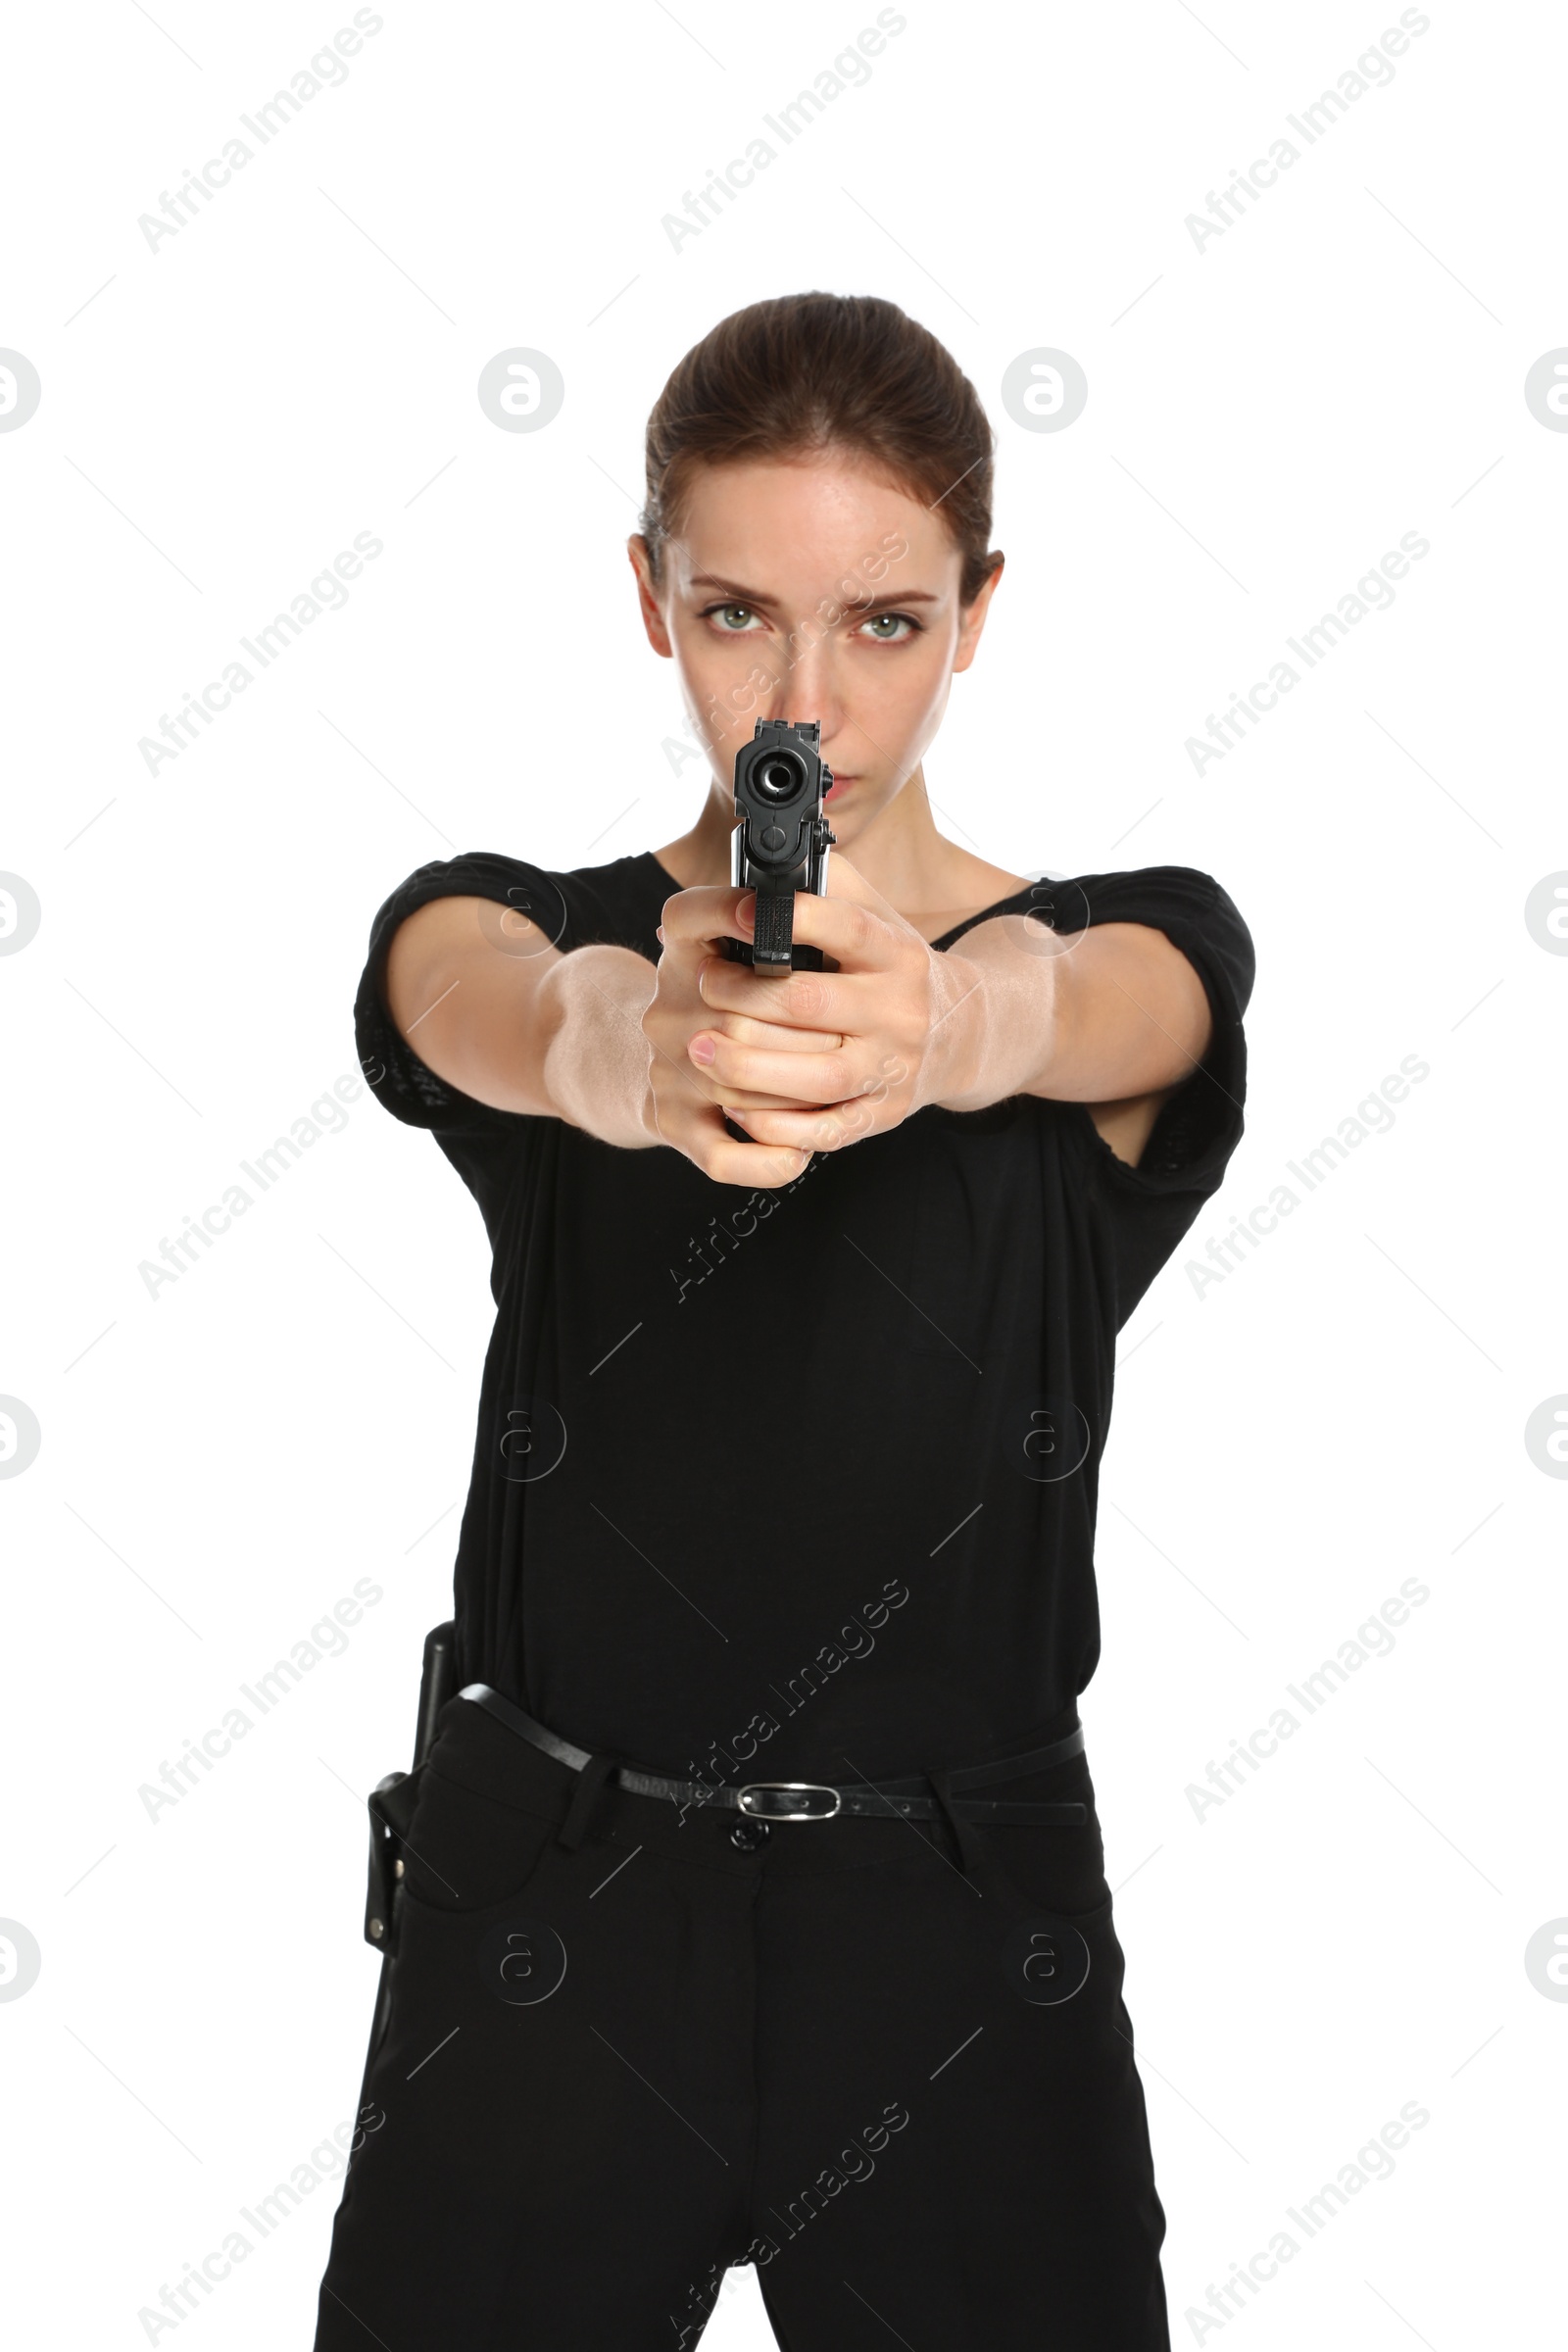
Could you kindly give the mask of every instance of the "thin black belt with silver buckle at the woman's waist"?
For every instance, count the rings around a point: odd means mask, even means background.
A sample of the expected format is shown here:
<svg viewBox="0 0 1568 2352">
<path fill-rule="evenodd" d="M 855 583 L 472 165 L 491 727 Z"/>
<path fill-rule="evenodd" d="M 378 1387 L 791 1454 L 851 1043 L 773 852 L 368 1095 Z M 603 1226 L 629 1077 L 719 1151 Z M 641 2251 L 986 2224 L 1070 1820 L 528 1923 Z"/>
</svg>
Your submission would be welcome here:
<svg viewBox="0 0 1568 2352">
<path fill-rule="evenodd" d="M 473 1698 L 475 1705 L 494 1715 L 508 1731 L 531 1740 L 534 1748 L 543 1748 L 548 1757 L 555 1757 L 557 1764 L 567 1764 L 571 1771 L 583 1771 L 592 1762 L 588 1748 L 562 1740 L 555 1731 L 534 1722 L 531 1715 L 524 1715 L 515 1700 L 503 1698 L 501 1691 L 491 1691 L 487 1682 L 468 1682 L 458 1691 L 458 1698 Z M 1081 1755 L 1081 1750 L 1084 1726 L 1074 1724 L 1065 1738 L 1051 1740 L 1048 1748 L 1032 1748 L 1027 1755 L 999 1757 L 992 1764 L 966 1764 L 940 1776 L 919 1773 L 910 1780 L 863 1780 L 858 1788 L 835 1788 L 827 1780 L 745 1780 L 731 1788 L 719 1780 L 672 1780 L 668 1773 L 642 1771 L 637 1764 L 614 1764 L 607 1778 L 630 1790 L 632 1797 L 668 1797 L 675 1804 L 698 1806 L 719 1804 L 736 1813 L 748 1813 L 752 1820 L 835 1820 L 839 1813 L 879 1818 L 893 1813 L 905 1820 L 936 1820 L 954 1811 L 964 1820 L 1032 1820 L 1081 1828 L 1088 1816 L 1084 1804 L 957 1795 L 966 1788 L 990 1788 L 997 1780 L 1018 1780 L 1023 1773 L 1046 1771 L 1051 1764 L 1065 1764 L 1067 1757 Z M 945 1799 L 926 1795 L 933 1778 L 940 1778 Z"/>
</svg>

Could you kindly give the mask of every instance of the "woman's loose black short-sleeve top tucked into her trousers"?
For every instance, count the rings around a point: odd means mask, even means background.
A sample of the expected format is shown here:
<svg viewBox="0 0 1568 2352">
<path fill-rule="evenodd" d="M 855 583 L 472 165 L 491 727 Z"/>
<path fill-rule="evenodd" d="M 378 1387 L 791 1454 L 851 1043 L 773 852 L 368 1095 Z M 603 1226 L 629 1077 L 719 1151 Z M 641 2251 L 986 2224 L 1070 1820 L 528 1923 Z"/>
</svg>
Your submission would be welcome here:
<svg viewBox="0 0 1568 2352">
<path fill-rule="evenodd" d="M 1095 1670 L 1114 1341 L 1241 1136 L 1248 929 L 1208 875 L 1152 866 L 1037 882 L 936 941 L 1034 913 L 1182 950 L 1213 1042 L 1138 1167 L 1081 1103 L 1020 1094 L 929 1105 L 778 1190 L 717 1185 L 668 1145 L 473 1101 L 388 1014 L 390 938 L 428 898 L 491 901 L 498 953 L 656 962 L 677 889 L 651 851 L 571 873 L 470 851 L 371 927 L 360 1063 L 435 1134 L 494 1254 L 458 1682 L 722 1780 L 1023 1750 Z"/>
</svg>

